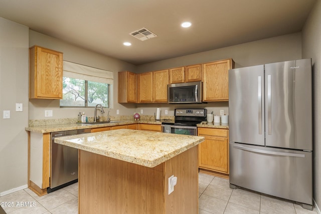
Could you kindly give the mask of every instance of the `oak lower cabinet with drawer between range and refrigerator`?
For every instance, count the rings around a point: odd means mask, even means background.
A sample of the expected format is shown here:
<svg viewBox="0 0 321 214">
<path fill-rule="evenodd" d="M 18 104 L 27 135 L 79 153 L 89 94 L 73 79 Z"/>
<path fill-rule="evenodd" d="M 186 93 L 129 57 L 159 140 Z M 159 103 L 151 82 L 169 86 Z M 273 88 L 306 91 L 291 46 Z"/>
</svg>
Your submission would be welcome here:
<svg viewBox="0 0 321 214">
<path fill-rule="evenodd" d="M 198 135 L 205 141 L 198 145 L 199 169 L 213 172 L 221 177 L 229 174 L 229 142 L 228 129 L 198 128 Z"/>
</svg>

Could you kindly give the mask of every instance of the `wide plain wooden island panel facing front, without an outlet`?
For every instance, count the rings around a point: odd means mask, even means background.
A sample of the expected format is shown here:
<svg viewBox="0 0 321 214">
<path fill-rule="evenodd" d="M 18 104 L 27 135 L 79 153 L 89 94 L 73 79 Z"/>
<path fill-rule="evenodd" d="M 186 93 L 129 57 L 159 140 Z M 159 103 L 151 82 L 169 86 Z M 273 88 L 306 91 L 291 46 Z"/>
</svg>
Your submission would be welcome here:
<svg viewBox="0 0 321 214">
<path fill-rule="evenodd" d="M 79 150 L 79 213 L 165 213 L 163 169 Z"/>
</svg>

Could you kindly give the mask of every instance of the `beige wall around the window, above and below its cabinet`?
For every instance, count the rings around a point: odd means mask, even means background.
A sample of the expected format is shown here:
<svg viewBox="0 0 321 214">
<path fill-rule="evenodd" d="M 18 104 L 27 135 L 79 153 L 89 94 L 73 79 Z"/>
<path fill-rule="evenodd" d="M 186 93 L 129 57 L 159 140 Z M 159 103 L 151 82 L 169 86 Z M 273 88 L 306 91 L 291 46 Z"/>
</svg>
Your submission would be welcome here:
<svg viewBox="0 0 321 214">
<path fill-rule="evenodd" d="M 78 63 L 94 68 L 99 68 L 114 73 L 114 86 L 111 103 L 111 116 L 116 116 L 116 109 L 119 109 L 120 114 L 131 114 L 134 112 L 135 104 L 120 105 L 117 103 L 117 82 L 119 71 L 133 71 L 135 66 L 111 57 L 106 57 L 95 52 L 79 48 L 74 45 L 67 44 L 61 40 L 40 34 L 30 30 L 29 45 L 38 45 L 49 49 L 63 52 L 65 61 Z M 86 108 L 60 108 L 59 100 L 30 100 L 29 119 L 60 119 L 60 118 L 76 118 L 79 112 L 86 112 L 88 117 L 94 116 L 94 109 Z M 45 117 L 45 110 L 53 110 L 53 117 Z M 105 111 L 106 112 L 106 111 Z M 105 113 L 107 116 L 107 112 Z"/>
</svg>

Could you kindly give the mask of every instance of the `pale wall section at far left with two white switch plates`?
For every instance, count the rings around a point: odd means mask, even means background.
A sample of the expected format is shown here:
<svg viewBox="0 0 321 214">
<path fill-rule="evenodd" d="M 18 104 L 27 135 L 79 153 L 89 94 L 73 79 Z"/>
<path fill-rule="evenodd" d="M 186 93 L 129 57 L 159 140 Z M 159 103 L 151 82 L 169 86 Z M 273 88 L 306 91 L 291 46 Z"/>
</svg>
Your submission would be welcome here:
<svg viewBox="0 0 321 214">
<path fill-rule="evenodd" d="M 29 28 L 0 18 L 0 196 L 27 187 Z M 16 103 L 23 111 L 16 112 Z M 10 110 L 10 119 L 3 111 Z"/>
</svg>

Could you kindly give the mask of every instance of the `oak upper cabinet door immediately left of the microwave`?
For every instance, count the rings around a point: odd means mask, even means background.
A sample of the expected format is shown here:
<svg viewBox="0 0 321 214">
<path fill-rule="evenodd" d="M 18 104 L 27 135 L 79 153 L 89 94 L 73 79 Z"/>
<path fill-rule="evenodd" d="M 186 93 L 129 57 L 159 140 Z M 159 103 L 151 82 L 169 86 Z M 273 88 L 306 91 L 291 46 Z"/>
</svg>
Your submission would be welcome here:
<svg viewBox="0 0 321 214">
<path fill-rule="evenodd" d="M 167 103 L 167 85 L 169 84 L 169 70 L 152 72 L 153 102 Z"/>
</svg>

